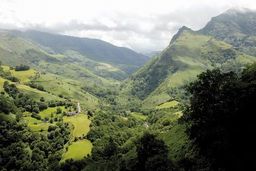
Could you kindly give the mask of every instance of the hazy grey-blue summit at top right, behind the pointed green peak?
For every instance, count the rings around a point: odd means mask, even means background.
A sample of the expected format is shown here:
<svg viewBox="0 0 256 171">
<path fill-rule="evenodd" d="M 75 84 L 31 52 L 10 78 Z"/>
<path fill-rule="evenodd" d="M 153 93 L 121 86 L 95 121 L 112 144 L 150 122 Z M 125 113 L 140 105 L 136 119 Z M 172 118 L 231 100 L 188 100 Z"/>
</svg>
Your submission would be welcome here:
<svg viewBox="0 0 256 171">
<path fill-rule="evenodd" d="M 235 48 L 256 55 L 256 12 L 249 9 L 230 9 L 200 30 L 201 33 L 232 44 Z"/>
</svg>

